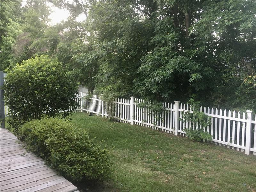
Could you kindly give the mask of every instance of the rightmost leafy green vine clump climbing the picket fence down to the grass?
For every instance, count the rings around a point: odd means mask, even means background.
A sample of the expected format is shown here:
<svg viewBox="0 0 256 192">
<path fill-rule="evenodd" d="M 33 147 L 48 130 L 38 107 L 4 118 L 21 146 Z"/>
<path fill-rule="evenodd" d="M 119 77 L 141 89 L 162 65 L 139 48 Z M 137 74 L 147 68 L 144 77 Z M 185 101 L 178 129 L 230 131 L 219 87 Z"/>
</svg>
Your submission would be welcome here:
<svg viewBox="0 0 256 192">
<path fill-rule="evenodd" d="M 200 102 L 195 101 L 196 95 L 192 95 L 192 97 L 188 100 L 188 105 L 191 106 L 191 110 L 193 111 L 182 111 L 180 120 L 183 122 L 193 122 L 192 127 L 186 127 L 184 131 L 186 135 L 191 140 L 202 141 L 202 140 L 212 140 L 212 136 L 209 132 L 204 131 L 204 127 L 210 126 L 212 124 L 211 119 L 208 115 L 206 115 L 203 111 L 200 111 Z M 202 128 L 196 129 L 195 124 L 201 125 Z"/>
</svg>

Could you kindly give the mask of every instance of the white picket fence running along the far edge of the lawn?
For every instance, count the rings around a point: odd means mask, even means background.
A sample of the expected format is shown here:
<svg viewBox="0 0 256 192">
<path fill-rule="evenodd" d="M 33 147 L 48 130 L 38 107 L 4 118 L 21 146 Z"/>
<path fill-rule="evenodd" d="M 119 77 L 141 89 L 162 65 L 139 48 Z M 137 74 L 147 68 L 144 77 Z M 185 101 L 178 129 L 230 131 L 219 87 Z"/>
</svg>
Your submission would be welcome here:
<svg viewBox="0 0 256 192">
<path fill-rule="evenodd" d="M 87 96 L 84 92 L 80 93 L 77 98 L 80 102 L 82 112 L 92 112 L 102 117 L 108 117 L 106 113 L 106 104 L 98 95 Z M 175 103 L 163 103 L 165 110 L 162 114 L 154 114 L 148 108 L 139 108 L 138 103 L 144 100 L 136 99 L 115 99 L 115 118 L 124 123 L 137 124 L 153 129 L 160 129 L 164 132 L 175 135 L 186 136 L 185 128 L 202 128 L 198 123 L 191 121 L 180 121 L 182 111 L 192 112 L 188 105 L 181 104 L 180 101 Z M 200 108 L 201 111 L 211 117 L 212 124 L 203 127 L 205 131 L 212 135 L 212 142 L 228 148 L 245 151 L 245 154 L 256 155 L 256 114 L 252 116 L 251 111 L 246 114 L 230 110 L 218 110 L 210 108 Z"/>
</svg>

